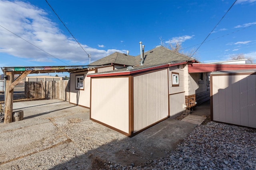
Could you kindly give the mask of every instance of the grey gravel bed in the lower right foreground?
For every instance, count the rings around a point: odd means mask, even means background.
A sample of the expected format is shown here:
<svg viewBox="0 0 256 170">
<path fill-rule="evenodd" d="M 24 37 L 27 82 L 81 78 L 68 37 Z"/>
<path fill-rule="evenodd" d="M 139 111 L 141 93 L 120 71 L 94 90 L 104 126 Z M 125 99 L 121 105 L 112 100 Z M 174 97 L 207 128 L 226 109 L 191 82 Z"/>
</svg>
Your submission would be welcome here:
<svg viewBox="0 0 256 170">
<path fill-rule="evenodd" d="M 137 167 L 108 162 L 105 169 L 255 170 L 255 144 L 255 129 L 209 122 L 197 126 L 168 156 Z"/>
</svg>

